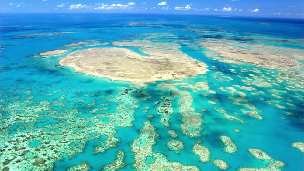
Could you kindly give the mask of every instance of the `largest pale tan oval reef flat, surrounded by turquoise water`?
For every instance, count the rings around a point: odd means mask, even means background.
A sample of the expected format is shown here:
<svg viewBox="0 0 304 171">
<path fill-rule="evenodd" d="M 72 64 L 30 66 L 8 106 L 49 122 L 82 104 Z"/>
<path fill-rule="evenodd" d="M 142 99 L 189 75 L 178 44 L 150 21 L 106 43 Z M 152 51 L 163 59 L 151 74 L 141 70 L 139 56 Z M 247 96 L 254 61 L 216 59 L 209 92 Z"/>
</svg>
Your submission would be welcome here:
<svg viewBox="0 0 304 171">
<path fill-rule="evenodd" d="M 142 56 L 126 48 L 78 50 L 60 59 L 59 64 L 95 77 L 133 83 L 182 79 L 208 71 L 205 63 L 189 57 Z"/>
</svg>

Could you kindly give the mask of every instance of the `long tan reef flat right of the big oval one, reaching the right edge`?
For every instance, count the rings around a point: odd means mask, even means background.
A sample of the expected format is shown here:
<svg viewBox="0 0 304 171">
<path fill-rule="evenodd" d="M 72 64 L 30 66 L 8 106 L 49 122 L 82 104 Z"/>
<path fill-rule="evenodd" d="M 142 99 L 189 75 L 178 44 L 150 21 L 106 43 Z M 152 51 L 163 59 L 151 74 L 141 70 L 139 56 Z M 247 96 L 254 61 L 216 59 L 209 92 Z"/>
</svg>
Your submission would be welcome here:
<svg viewBox="0 0 304 171">
<path fill-rule="evenodd" d="M 206 56 L 219 59 L 227 63 L 240 64 L 240 61 L 247 62 L 263 68 L 299 67 L 303 60 L 303 50 L 292 48 L 280 48 L 267 45 L 253 45 L 238 43 L 236 41 L 208 39 L 199 42 L 201 46 L 212 51 L 207 51 Z M 250 48 L 249 48 L 250 47 Z M 221 59 L 222 56 L 228 59 Z"/>
</svg>

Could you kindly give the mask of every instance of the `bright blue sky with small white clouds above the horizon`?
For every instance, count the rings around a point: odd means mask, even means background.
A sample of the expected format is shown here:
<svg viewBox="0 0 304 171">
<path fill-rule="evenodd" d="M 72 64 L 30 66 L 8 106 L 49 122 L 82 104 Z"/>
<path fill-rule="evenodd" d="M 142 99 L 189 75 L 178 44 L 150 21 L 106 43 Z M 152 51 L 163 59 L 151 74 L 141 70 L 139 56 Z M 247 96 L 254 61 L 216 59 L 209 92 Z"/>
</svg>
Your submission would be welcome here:
<svg viewBox="0 0 304 171">
<path fill-rule="evenodd" d="M 159 13 L 304 18 L 303 0 L 0 0 L 1 13 Z"/>
</svg>

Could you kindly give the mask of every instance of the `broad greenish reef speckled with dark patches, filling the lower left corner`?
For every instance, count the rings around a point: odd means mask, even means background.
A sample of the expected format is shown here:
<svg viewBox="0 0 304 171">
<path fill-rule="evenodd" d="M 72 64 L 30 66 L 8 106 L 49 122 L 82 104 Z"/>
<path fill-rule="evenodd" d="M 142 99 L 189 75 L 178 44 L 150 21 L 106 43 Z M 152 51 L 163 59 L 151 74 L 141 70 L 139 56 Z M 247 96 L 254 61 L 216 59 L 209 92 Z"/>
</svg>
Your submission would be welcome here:
<svg viewBox="0 0 304 171">
<path fill-rule="evenodd" d="M 88 112 L 95 113 L 95 116 L 83 119 L 76 115 L 83 115 L 83 113 L 77 109 L 67 108 L 65 103 L 60 102 L 68 100 L 67 92 L 54 101 L 33 101 L 34 96 L 31 91 L 23 93 L 29 96 L 24 101 L 7 101 L 5 106 L 3 106 L 4 101 L 1 101 L 1 112 L 14 115 L 14 117 L 3 117 L 1 113 L 0 170 L 9 170 L 8 168 L 11 170 L 41 170 L 42 166 L 44 170 L 53 170 L 55 161 L 63 159 L 65 156 L 72 158 L 83 152 L 89 137 L 92 139 L 106 137 L 106 139 L 98 141 L 94 147 L 94 154 L 104 153 L 106 150 L 116 147 L 120 142 L 120 139 L 114 136 L 117 132 L 115 128 L 133 126 L 135 115 L 133 110 L 139 107 L 136 105 L 137 100 L 150 98 L 143 91 L 121 89 L 119 94 L 111 100 L 108 99 L 109 97 L 99 96 L 115 103 L 120 102 L 113 113 L 98 113 L 98 109 L 95 108 Z M 138 98 L 135 100 L 134 96 Z M 52 109 L 58 106 L 62 108 L 61 111 Z M 45 115 L 43 112 L 48 114 Z M 104 115 L 109 118 L 109 121 L 101 118 Z M 80 121 L 76 122 L 75 119 Z M 48 120 L 54 122 L 39 129 L 32 123 Z M 11 133 L 9 128 L 19 125 L 19 122 L 26 126 L 20 125 L 16 128 L 16 133 L 6 136 Z M 12 148 L 12 146 L 16 148 Z M 124 167 L 124 155 L 123 152 L 118 152 L 115 161 L 107 167 Z M 28 156 L 33 156 L 35 159 L 32 160 Z M 80 163 L 71 169 L 84 168 L 83 170 L 85 170 L 89 167 L 87 163 Z"/>
</svg>

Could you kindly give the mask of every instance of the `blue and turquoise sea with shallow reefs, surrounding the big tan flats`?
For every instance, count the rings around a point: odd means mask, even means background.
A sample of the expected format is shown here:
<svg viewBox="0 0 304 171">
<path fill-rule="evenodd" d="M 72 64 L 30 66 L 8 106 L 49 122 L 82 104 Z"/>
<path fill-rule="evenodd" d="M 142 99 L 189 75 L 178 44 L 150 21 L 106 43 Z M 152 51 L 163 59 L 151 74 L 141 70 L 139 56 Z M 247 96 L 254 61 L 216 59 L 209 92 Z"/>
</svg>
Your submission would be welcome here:
<svg viewBox="0 0 304 171">
<path fill-rule="evenodd" d="M 0 169 L 218 170 L 212 161 L 221 159 L 228 170 L 271 169 L 277 160 L 285 167 L 272 169 L 303 170 L 303 152 L 291 146 L 304 142 L 303 60 L 276 69 L 220 62 L 200 46 L 208 39 L 303 51 L 303 20 L 1 14 Z M 179 45 L 209 71 L 143 88 L 58 65 L 68 53 L 94 47 L 147 55 L 138 44 L 113 43 L 143 40 Z M 89 43 L 62 46 L 77 42 Z M 36 55 L 61 49 L 67 52 Z M 250 148 L 272 158 L 255 158 Z"/>
</svg>

